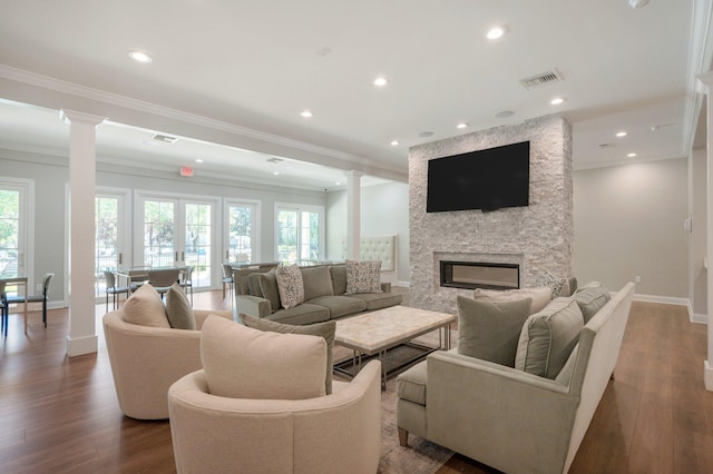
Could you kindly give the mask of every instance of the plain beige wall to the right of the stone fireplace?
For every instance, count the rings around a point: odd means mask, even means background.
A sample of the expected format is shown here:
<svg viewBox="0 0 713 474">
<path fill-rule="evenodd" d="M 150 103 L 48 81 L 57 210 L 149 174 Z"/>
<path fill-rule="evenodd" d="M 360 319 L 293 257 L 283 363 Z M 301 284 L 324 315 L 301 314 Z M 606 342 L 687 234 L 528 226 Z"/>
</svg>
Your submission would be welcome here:
<svg viewBox="0 0 713 474">
<path fill-rule="evenodd" d="M 617 290 L 687 298 L 687 159 L 574 174 L 574 274 Z"/>
</svg>

